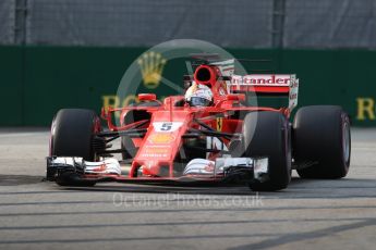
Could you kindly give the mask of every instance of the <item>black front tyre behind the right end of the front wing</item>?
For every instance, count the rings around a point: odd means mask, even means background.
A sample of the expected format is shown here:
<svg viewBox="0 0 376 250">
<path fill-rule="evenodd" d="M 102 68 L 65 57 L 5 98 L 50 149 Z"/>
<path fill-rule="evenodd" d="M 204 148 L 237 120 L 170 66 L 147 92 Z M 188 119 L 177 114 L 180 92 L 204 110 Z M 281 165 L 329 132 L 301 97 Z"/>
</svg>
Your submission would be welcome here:
<svg viewBox="0 0 376 250">
<path fill-rule="evenodd" d="M 243 123 L 244 155 L 269 159 L 268 180 L 252 182 L 255 191 L 274 191 L 286 188 L 291 179 L 290 126 L 277 112 L 252 112 Z"/>
</svg>

